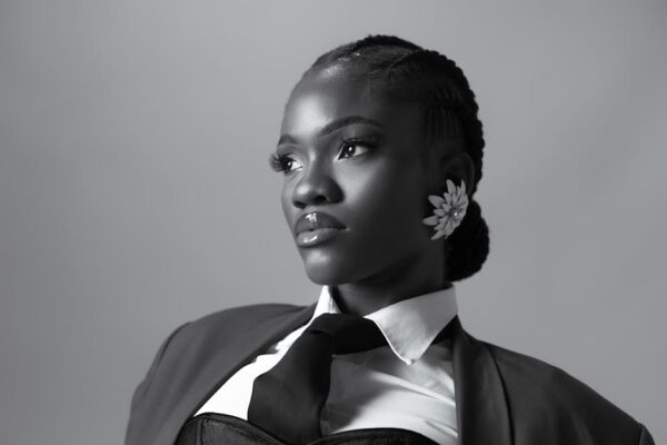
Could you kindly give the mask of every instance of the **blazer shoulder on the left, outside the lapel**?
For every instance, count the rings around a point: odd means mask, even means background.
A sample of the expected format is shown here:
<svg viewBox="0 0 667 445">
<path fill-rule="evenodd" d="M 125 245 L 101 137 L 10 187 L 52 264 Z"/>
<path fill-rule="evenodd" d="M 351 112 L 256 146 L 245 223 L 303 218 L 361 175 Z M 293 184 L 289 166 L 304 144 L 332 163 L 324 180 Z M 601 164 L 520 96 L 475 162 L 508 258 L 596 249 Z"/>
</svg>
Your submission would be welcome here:
<svg viewBox="0 0 667 445">
<path fill-rule="evenodd" d="M 210 374 L 211 364 L 216 364 L 216 373 L 223 375 L 242 360 L 248 344 L 260 346 L 278 328 L 305 318 L 307 309 L 307 306 L 286 304 L 238 306 L 202 316 L 172 330 L 135 389 L 126 444 L 152 443 L 147 437 L 158 434 L 163 422 L 192 388 L 203 385 L 202 382 L 215 384 L 210 376 L 217 374 Z"/>
</svg>

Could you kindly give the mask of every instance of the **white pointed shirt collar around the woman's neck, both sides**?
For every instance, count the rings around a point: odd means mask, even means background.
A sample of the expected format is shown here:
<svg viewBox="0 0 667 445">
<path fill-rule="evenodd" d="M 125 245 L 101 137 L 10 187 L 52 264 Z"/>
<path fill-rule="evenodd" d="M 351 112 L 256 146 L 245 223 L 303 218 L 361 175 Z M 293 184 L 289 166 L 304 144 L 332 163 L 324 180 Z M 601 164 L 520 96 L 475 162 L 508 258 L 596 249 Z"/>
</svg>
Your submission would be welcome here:
<svg viewBox="0 0 667 445">
<path fill-rule="evenodd" d="M 312 318 L 327 313 L 340 314 L 340 308 L 331 296 L 331 287 L 322 286 Z M 456 289 L 451 285 L 386 306 L 365 318 L 375 322 L 394 354 L 411 365 L 457 313 Z"/>
</svg>

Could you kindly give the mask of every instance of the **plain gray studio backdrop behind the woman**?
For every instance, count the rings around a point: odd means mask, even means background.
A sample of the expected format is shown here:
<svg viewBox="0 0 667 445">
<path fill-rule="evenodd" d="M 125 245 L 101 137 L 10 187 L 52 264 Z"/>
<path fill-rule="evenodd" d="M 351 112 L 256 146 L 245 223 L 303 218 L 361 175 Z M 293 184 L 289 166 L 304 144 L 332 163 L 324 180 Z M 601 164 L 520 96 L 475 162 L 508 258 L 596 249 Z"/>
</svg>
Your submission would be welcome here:
<svg viewBox="0 0 667 445">
<path fill-rule="evenodd" d="M 302 70 L 378 32 L 479 98 L 464 326 L 667 441 L 664 1 L 0 0 L 0 443 L 118 444 L 176 326 L 317 297 L 267 156 Z"/>
</svg>

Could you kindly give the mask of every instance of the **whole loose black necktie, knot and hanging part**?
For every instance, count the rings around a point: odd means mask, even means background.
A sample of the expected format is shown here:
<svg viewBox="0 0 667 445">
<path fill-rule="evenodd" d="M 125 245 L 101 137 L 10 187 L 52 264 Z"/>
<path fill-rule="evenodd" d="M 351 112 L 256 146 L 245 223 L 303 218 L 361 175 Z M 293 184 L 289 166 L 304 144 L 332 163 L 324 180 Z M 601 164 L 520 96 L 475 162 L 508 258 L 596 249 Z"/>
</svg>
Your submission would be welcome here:
<svg viewBox="0 0 667 445">
<path fill-rule="evenodd" d="M 329 394 L 334 354 L 387 343 L 377 325 L 351 314 L 322 314 L 303 330 L 273 368 L 255 379 L 248 422 L 292 444 L 318 437 Z"/>
</svg>

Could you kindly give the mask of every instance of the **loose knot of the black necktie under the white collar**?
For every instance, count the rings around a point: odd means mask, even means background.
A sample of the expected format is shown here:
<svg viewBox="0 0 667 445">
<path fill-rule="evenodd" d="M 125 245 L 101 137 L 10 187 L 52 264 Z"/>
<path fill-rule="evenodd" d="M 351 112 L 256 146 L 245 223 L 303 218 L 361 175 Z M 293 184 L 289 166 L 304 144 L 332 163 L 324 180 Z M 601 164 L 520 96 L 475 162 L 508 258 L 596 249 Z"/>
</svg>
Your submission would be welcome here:
<svg viewBox="0 0 667 445">
<path fill-rule="evenodd" d="M 322 335 L 331 342 L 334 354 L 354 354 L 387 344 L 375 322 L 352 314 L 322 314 L 303 335 Z"/>
</svg>

